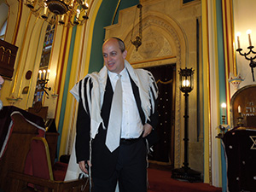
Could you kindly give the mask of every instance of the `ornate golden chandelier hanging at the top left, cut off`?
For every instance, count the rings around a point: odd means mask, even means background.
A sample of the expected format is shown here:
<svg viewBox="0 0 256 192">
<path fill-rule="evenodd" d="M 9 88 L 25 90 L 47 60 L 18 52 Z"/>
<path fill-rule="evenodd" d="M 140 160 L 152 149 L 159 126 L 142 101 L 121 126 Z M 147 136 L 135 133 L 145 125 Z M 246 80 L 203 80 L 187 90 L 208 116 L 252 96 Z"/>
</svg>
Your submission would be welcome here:
<svg viewBox="0 0 256 192">
<path fill-rule="evenodd" d="M 81 26 L 88 20 L 86 0 L 26 0 L 25 4 L 50 25 Z"/>
</svg>

